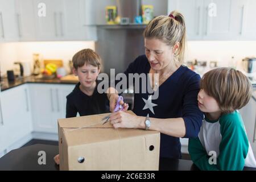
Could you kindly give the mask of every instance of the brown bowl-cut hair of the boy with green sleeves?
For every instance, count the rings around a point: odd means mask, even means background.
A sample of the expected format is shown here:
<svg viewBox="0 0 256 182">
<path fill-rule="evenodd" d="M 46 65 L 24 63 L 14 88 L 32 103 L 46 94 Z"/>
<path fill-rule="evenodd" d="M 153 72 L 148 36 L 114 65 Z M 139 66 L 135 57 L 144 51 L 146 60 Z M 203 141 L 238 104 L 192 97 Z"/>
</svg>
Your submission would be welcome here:
<svg viewBox="0 0 256 182">
<path fill-rule="evenodd" d="M 216 68 L 205 73 L 200 88 L 217 101 L 222 113 L 245 106 L 253 89 L 249 78 L 233 68 Z"/>
</svg>

